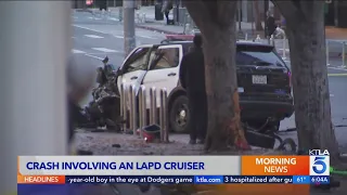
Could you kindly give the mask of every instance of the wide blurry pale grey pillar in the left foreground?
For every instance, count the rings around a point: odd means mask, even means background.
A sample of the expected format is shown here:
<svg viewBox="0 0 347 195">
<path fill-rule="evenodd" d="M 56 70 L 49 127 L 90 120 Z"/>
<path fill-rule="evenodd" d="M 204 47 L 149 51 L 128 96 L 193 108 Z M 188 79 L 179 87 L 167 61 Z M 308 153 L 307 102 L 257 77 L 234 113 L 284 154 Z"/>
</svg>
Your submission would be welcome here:
<svg viewBox="0 0 347 195">
<path fill-rule="evenodd" d="M 1 182 L 15 194 L 17 156 L 66 155 L 70 1 L 0 1 Z"/>
</svg>

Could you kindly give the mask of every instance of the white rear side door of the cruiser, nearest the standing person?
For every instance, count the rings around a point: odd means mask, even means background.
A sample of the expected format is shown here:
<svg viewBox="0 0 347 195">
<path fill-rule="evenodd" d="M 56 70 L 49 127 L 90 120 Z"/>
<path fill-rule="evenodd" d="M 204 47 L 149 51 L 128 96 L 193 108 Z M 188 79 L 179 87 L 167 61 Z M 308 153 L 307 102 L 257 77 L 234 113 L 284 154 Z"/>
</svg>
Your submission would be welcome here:
<svg viewBox="0 0 347 195">
<path fill-rule="evenodd" d="M 166 88 L 169 94 L 178 84 L 182 55 L 181 44 L 160 46 L 153 50 L 149 62 L 150 70 L 146 73 L 142 84 L 146 89 L 155 87 L 157 96 L 159 96 L 159 90 L 163 88 Z M 149 99 L 146 105 L 150 107 Z M 157 105 L 159 105 L 159 99 L 157 99 Z"/>
</svg>

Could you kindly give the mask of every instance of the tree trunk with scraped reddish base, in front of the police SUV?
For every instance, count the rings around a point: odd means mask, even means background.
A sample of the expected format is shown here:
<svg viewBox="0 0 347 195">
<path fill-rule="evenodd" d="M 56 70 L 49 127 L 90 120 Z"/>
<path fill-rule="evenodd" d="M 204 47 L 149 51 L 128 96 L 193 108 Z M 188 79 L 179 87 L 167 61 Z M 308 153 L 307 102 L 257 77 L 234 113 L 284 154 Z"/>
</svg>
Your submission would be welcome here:
<svg viewBox="0 0 347 195">
<path fill-rule="evenodd" d="M 240 121 L 235 66 L 236 1 L 185 1 L 203 36 L 208 102 L 207 151 L 249 150 Z"/>
</svg>

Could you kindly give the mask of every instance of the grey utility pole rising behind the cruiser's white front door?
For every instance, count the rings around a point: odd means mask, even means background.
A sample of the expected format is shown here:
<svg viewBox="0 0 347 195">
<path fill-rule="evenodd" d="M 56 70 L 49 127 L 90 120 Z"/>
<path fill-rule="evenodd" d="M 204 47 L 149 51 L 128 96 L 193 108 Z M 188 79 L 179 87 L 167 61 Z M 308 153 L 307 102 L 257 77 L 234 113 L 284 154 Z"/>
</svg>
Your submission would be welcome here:
<svg viewBox="0 0 347 195">
<path fill-rule="evenodd" d="M 131 52 L 131 50 L 136 47 L 134 8 L 136 8 L 136 0 L 123 0 L 125 56 L 127 56 Z"/>
</svg>

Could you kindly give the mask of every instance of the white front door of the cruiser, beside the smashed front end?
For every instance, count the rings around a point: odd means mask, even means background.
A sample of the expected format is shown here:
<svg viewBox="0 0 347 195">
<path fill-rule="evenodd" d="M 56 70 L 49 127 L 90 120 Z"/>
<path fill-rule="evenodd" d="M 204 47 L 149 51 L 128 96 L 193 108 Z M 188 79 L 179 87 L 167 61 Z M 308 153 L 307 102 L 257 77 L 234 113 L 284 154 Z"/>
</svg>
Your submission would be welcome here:
<svg viewBox="0 0 347 195">
<path fill-rule="evenodd" d="M 134 84 L 139 89 L 143 77 L 149 69 L 149 54 L 152 46 L 142 46 L 130 52 L 120 67 L 120 76 L 117 79 L 118 89 L 124 82 L 127 86 Z"/>
</svg>

